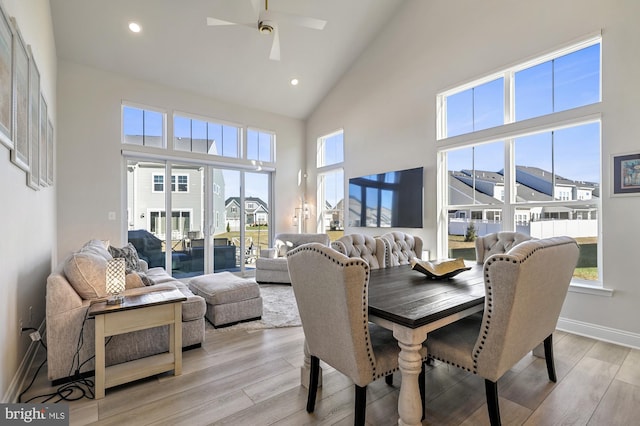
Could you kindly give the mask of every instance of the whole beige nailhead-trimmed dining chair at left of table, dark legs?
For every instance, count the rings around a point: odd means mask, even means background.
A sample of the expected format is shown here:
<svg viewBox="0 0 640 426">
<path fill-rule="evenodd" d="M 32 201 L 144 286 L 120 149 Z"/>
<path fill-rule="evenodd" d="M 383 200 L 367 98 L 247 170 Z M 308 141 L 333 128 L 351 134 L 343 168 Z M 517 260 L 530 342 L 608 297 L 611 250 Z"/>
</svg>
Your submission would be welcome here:
<svg viewBox="0 0 640 426">
<path fill-rule="evenodd" d="M 370 267 L 362 259 L 349 258 L 318 243 L 289 251 L 287 262 L 311 357 L 307 412 L 315 409 L 322 360 L 353 380 L 354 424 L 364 425 L 367 385 L 391 377 L 399 368 L 400 352 L 390 330 L 368 321 Z M 424 348 L 422 355 L 426 360 Z M 424 391 L 424 374 L 420 387 Z"/>
</svg>

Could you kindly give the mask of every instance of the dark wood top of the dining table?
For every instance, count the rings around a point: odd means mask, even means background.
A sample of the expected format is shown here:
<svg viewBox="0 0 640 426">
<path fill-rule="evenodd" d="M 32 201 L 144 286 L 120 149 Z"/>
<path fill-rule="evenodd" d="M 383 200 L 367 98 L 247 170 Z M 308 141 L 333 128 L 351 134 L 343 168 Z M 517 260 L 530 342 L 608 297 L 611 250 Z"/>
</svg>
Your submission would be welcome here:
<svg viewBox="0 0 640 426">
<path fill-rule="evenodd" d="M 369 314 L 418 328 L 484 304 L 482 265 L 438 280 L 410 265 L 373 269 L 369 278 Z"/>
</svg>

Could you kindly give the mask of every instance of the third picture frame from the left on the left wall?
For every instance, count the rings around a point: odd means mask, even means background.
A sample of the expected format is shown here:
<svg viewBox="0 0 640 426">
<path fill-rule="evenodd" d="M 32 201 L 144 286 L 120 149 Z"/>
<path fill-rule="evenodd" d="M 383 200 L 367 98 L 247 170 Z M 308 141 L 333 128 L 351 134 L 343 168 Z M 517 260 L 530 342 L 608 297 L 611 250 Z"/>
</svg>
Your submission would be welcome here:
<svg viewBox="0 0 640 426">
<path fill-rule="evenodd" d="M 40 189 L 40 71 L 33 58 L 31 46 L 29 55 L 29 171 L 27 186 Z"/>
</svg>

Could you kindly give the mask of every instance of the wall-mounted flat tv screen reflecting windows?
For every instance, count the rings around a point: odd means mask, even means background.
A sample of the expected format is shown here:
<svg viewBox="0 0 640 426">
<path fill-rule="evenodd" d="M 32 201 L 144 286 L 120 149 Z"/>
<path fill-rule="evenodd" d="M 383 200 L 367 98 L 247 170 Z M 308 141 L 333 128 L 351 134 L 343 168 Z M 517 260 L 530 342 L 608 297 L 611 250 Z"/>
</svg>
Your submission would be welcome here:
<svg viewBox="0 0 640 426">
<path fill-rule="evenodd" d="M 349 179 L 349 226 L 422 228 L 423 168 Z"/>
</svg>

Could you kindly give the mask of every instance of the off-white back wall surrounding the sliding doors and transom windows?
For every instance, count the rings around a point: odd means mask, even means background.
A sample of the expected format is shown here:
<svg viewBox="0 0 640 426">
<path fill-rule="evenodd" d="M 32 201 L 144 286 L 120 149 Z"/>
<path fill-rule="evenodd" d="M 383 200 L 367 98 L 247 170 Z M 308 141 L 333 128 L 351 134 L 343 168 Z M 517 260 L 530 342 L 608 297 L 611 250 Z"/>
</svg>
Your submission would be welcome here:
<svg viewBox="0 0 640 426">
<path fill-rule="evenodd" d="M 126 205 L 121 150 L 122 101 L 249 125 L 276 133 L 275 231 L 289 231 L 304 123 L 60 60 L 58 68 L 58 253 L 91 238 L 123 244 Z M 108 220 L 116 212 L 116 220 Z"/>
</svg>

